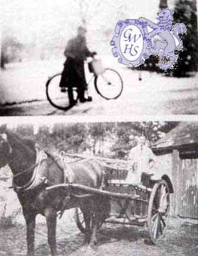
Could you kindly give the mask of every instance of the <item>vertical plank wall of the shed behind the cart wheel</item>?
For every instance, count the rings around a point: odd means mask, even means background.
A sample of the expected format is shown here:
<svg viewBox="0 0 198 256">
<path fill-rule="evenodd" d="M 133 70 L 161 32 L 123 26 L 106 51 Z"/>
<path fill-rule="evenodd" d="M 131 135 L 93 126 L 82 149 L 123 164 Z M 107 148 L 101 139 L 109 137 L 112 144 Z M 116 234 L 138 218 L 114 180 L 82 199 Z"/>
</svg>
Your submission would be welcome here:
<svg viewBox="0 0 198 256">
<path fill-rule="evenodd" d="M 180 157 L 179 150 L 157 156 L 156 171 L 169 175 L 174 193 L 171 194 L 170 214 L 198 218 L 198 159 Z"/>
</svg>

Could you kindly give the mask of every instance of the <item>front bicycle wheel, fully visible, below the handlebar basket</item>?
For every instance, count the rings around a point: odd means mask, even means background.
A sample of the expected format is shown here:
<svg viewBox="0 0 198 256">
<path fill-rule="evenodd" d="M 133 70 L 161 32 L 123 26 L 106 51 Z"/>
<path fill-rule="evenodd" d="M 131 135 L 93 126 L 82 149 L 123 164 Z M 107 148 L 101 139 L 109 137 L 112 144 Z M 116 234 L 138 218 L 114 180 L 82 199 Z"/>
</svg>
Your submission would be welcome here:
<svg viewBox="0 0 198 256">
<path fill-rule="evenodd" d="M 117 99 L 123 91 L 123 80 L 112 68 L 105 68 L 103 74 L 95 77 L 95 90 L 106 100 Z"/>
</svg>

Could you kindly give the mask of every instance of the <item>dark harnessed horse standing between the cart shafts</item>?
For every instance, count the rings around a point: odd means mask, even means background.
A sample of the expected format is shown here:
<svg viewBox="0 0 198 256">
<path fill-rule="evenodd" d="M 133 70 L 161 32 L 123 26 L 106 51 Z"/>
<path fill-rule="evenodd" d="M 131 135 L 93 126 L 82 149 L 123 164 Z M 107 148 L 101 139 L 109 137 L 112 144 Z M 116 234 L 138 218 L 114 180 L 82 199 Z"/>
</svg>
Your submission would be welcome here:
<svg viewBox="0 0 198 256">
<path fill-rule="evenodd" d="M 102 189 L 105 180 L 103 166 L 98 160 L 84 159 L 64 162 L 52 152 L 39 149 L 37 143 L 6 126 L 0 127 L 0 168 L 9 165 L 12 170 L 12 187 L 22 206 L 27 225 L 27 255 L 34 255 L 35 218 L 38 214 L 47 220 L 48 244 L 51 255 L 57 255 L 56 225 L 58 213 L 80 207 L 85 220 L 85 242 L 97 244 L 97 230 L 104 221 L 110 204 L 100 195 L 85 195 L 80 189 L 48 186 L 60 183 L 77 183 Z"/>
</svg>

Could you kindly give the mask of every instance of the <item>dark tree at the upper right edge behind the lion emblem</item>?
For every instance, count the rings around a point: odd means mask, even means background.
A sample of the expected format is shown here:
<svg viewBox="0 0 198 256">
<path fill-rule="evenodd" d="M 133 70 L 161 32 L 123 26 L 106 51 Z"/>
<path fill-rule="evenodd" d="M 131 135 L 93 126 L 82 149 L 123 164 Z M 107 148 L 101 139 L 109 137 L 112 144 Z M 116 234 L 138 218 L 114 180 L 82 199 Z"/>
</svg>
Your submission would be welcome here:
<svg viewBox="0 0 198 256">
<path fill-rule="evenodd" d="M 174 22 L 183 22 L 187 27 L 187 35 L 183 36 L 184 50 L 179 58 L 173 75 L 186 76 L 190 71 L 197 71 L 198 37 L 197 37 L 197 8 L 196 1 L 177 0 L 174 9 Z"/>
</svg>

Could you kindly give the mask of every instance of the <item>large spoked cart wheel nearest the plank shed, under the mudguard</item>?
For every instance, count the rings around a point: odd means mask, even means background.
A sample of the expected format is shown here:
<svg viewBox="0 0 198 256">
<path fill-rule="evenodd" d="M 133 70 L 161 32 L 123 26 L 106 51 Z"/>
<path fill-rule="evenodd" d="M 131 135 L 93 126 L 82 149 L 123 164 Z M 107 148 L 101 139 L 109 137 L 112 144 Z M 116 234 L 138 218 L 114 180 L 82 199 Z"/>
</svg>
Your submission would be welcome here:
<svg viewBox="0 0 198 256">
<path fill-rule="evenodd" d="M 157 244 L 166 234 L 169 224 L 170 193 L 169 186 L 165 180 L 159 180 L 151 192 L 147 225 L 150 239 Z"/>
</svg>

